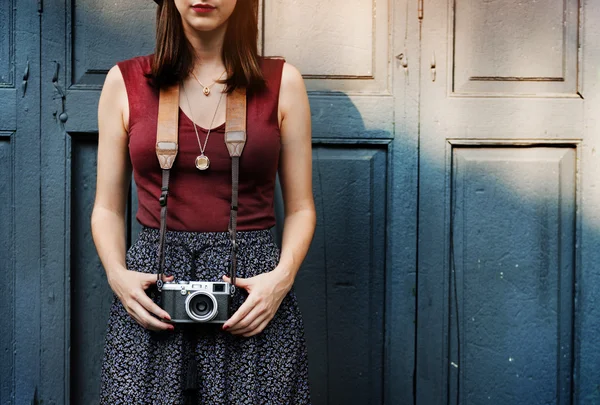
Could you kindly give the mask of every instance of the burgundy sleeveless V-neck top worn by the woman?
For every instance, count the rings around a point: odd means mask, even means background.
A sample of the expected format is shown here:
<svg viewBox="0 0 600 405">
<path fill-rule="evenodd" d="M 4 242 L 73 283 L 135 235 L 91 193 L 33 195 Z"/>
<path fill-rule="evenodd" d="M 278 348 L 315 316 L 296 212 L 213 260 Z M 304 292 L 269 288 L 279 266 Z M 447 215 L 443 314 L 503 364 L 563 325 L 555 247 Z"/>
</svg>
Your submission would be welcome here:
<svg viewBox="0 0 600 405">
<path fill-rule="evenodd" d="M 162 172 L 156 157 L 158 90 L 144 74 L 152 55 L 118 63 L 129 99 L 129 156 L 137 186 L 136 218 L 144 226 L 160 227 Z M 273 195 L 279 165 L 280 132 L 277 118 L 284 60 L 261 59 L 266 90 L 248 96 L 247 141 L 240 158 L 238 230 L 260 230 L 275 225 Z M 200 139 L 206 129 L 198 127 Z M 224 232 L 231 205 L 231 158 L 223 136 L 225 124 L 211 131 L 206 156 L 210 168 L 196 169 L 200 154 L 193 123 L 179 110 L 179 152 L 169 184 L 167 227 L 170 230 Z"/>
</svg>

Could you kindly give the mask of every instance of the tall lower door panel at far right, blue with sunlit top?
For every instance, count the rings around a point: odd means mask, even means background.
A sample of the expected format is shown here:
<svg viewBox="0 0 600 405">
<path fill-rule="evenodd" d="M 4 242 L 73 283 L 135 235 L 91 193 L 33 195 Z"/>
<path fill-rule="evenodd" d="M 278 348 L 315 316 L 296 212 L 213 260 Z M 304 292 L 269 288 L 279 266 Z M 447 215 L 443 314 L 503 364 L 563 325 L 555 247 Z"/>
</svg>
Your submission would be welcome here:
<svg viewBox="0 0 600 405">
<path fill-rule="evenodd" d="M 451 401 L 460 384 L 461 403 L 570 403 L 575 159 L 452 146 Z"/>
</svg>

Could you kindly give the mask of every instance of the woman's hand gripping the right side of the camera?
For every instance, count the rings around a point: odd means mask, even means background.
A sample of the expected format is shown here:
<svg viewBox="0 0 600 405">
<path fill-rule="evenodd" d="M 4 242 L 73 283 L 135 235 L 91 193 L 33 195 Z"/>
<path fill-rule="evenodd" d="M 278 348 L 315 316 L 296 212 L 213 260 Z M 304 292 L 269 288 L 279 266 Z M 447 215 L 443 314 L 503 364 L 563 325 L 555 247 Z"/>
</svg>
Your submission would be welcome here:
<svg viewBox="0 0 600 405">
<path fill-rule="evenodd" d="M 227 276 L 223 280 L 231 283 Z M 223 325 L 234 335 L 250 337 L 259 334 L 269 324 L 292 287 L 292 282 L 278 269 L 250 278 L 236 278 L 235 286 L 248 292 L 246 301 Z"/>
</svg>

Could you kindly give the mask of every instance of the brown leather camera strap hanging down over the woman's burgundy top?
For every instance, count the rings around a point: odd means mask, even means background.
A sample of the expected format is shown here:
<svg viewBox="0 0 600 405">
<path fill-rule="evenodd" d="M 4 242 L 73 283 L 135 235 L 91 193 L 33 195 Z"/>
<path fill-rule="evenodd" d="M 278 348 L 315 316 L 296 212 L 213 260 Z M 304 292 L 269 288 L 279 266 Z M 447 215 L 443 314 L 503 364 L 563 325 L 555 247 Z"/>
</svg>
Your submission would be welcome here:
<svg viewBox="0 0 600 405">
<path fill-rule="evenodd" d="M 179 84 L 161 89 L 158 102 L 158 124 L 156 131 L 156 156 L 162 168 L 162 188 L 160 195 L 160 232 L 158 247 L 158 275 L 156 285 L 163 286 L 162 275 L 165 266 L 165 238 L 167 233 L 167 201 L 169 195 L 169 174 L 178 151 L 179 129 Z M 240 156 L 246 144 L 246 89 L 236 89 L 227 95 L 225 118 L 225 144 L 231 156 L 231 210 L 229 216 L 229 236 L 231 239 L 231 264 L 229 277 L 235 284 L 238 245 L 237 211 L 239 190 Z"/>
</svg>

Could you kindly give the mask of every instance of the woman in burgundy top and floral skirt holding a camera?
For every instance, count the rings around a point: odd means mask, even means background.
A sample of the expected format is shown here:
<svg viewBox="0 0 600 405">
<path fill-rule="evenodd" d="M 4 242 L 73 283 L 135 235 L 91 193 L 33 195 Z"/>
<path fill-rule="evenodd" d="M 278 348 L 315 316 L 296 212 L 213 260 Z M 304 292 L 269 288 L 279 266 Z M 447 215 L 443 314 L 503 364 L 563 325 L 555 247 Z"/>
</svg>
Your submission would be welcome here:
<svg viewBox="0 0 600 405">
<path fill-rule="evenodd" d="M 115 293 L 102 365 L 103 404 L 310 403 L 302 319 L 291 291 L 316 218 L 310 112 L 298 71 L 283 60 L 257 56 L 257 3 L 163 0 L 155 53 L 119 62 L 106 77 L 92 213 L 94 242 Z M 229 281 L 224 275 L 231 247 L 226 232 L 231 160 L 223 142 L 223 95 L 238 87 L 248 93 L 238 288 L 233 315 L 222 326 L 163 322 L 169 314 L 154 300 L 161 191 L 155 155 L 158 89 L 170 85 L 180 86 L 180 110 L 166 281 Z M 126 254 L 132 170 L 143 228 Z M 285 204 L 281 252 L 269 231 L 275 224 L 277 171 Z"/>
</svg>

